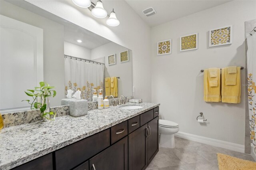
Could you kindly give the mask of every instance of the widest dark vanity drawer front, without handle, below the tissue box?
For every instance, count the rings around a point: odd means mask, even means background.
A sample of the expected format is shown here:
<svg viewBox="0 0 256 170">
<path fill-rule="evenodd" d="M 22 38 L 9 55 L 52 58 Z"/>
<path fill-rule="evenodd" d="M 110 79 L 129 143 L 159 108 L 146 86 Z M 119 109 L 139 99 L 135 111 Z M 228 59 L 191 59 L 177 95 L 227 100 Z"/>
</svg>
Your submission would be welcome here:
<svg viewBox="0 0 256 170">
<path fill-rule="evenodd" d="M 108 146 L 110 146 L 109 128 L 57 150 L 56 170 L 70 170 Z"/>
</svg>

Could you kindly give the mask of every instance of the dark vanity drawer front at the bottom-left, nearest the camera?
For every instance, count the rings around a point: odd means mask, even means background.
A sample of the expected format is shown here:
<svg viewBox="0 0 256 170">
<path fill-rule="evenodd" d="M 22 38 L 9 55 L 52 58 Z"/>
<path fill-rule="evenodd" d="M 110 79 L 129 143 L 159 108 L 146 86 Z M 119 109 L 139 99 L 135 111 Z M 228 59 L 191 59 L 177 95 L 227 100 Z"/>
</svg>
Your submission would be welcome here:
<svg viewBox="0 0 256 170">
<path fill-rule="evenodd" d="M 52 153 L 36 158 L 12 170 L 53 170 Z"/>
</svg>

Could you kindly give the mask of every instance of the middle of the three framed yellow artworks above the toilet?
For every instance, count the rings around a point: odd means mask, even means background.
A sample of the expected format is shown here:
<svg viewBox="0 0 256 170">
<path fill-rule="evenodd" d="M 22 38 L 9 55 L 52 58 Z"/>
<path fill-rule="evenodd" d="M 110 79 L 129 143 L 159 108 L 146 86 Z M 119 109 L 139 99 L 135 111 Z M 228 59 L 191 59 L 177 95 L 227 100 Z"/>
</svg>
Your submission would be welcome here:
<svg viewBox="0 0 256 170">
<path fill-rule="evenodd" d="M 188 51 L 197 49 L 197 36 L 198 33 L 181 36 L 180 37 L 180 51 Z"/>
</svg>

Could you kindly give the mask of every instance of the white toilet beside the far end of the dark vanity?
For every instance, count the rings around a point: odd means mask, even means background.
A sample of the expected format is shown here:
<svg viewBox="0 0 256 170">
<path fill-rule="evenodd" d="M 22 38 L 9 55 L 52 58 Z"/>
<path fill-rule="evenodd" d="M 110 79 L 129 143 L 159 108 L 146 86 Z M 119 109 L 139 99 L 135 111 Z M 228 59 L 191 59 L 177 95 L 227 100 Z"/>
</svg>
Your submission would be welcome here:
<svg viewBox="0 0 256 170">
<path fill-rule="evenodd" d="M 175 148 L 174 134 L 178 131 L 178 123 L 159 119 L 160 146 Z"/>
</svg>

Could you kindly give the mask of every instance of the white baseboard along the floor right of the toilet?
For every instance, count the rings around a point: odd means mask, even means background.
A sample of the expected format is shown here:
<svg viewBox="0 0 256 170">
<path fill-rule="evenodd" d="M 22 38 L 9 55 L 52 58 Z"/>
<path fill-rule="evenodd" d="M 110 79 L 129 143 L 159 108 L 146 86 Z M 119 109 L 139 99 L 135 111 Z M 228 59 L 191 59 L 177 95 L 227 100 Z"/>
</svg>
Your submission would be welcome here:
<svg viewBox="0 0 256 170">
<path fill-rule="evenodd" d="M 178 132 L 178 133 L 174 134 L 174 136 L 244 153 L 244 145 L 242 145 L 242 144 L 226 142 L 223 140 L 207 138 L 207 137 L 198 136 L 195 134 L 189 134 L 189 133 L 185 133 L 185 132 Z"/>
</svg>

